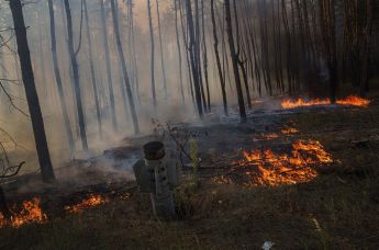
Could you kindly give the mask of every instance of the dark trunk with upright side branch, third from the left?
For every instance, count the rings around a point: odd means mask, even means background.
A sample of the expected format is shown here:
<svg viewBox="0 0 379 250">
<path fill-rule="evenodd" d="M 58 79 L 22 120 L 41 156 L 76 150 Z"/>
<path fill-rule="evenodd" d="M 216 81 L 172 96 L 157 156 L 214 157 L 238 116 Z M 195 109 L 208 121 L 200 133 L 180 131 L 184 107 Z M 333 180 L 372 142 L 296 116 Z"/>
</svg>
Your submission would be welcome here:
<svg viewBox="0 0 379 250">
<path fill-rule="evenodd" d="M 65 9 L 66 9 L 66 16 L 67 16 L 67 33 L 68 33 L 68 48 L 69 48 L 69 56 L 73 67 L 73 75 L 74 75 L 74 82 L 75 82 L 75 95 L 76 95 L 76 103 L 78 110 L 78 122 L 79 122 L 79 132 L 81 138 L 81 146 L 85 151 L 88 150 L 88 141 L 87 141 L 87 132 L 86 132 L 86 122 L 85 122 L 85 112 L 82 105 L 82 96 L 81 96 L 81 87 L 80 87 L 80 77 L 79 77 L 79 69 L 78 69 L 78 60 L 77 60 L 77 52 L 74 48 L 74 32 L 73 32 L 73 19 L 71 19 L 71 10 L 69 5 L 69 0 L 65 1 Z"/>
</svg>

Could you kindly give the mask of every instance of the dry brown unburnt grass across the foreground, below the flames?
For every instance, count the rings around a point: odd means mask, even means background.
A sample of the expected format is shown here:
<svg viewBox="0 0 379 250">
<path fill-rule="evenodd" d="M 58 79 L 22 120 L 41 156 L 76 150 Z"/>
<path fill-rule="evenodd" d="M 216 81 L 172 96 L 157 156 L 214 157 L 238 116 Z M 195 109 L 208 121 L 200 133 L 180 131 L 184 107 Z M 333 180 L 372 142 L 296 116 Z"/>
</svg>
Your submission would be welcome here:
<svg viewBox="0 0 379 250">
<path fill-rule="evenodd" d="M 44 225 L 0 229 L 0 249 L 260 249 L 266 240 L 275 249 L 378 249 L 378 103 L 290 120 L 341 164 L 299 185 L 185 184 L 175 221 L 152 217 L 148 197 L 136 193 Z M 369 141 L 352 144 L 359 139 Z"/>
</svg>

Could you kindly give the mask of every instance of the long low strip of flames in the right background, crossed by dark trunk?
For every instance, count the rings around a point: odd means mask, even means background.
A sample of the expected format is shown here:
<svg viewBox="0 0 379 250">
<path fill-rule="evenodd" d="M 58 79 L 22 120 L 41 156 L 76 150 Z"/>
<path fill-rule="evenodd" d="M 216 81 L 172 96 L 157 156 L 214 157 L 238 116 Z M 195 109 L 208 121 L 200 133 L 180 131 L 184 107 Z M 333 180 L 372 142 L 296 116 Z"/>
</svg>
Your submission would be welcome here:
<svg viewBox="0 0 379 250">
<path fill-rule="evenodd" d="M 339 105 L 346 106 L 361 106 L 367 107 L 370 104 L 370 101 L 367 99 L 358 98 L 355 95 L 349 95 L 345 99 L 338 99 L 336 101 Z M 330 99 L 313 99 L 304 100 L 299 98 L 298 100 L 285 100 L 281 102 L 281 107 L 285 110 L 301 107 L 301 106 L 317 106 L 317 105 L 330 105 L 332 101 Z"/>
</svg>

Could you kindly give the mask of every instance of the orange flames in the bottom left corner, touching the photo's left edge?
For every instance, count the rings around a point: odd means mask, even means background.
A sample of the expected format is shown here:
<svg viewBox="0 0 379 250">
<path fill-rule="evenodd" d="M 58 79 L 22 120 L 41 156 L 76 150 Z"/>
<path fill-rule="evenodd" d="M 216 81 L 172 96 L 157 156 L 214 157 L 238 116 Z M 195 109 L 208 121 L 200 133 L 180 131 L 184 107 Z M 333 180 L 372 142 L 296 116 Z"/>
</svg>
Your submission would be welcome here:
<svg viewBox="0 0 379 250">
<path fill-rule="evenodd" d="M 19 228 L 24 224 L 30 223 L 45 223 L 47 220 L 47 216 L 41 209 L 41 198 L 35 197 L 32 201 L 25 201 L 22 203 L 22 209 L 19 213 L 13 212 L 13 216 L 11 217 L 10 221 L 8 221 L 1 214 L 0 214 L 0 227 L 11 226 Z"/>
</svg>

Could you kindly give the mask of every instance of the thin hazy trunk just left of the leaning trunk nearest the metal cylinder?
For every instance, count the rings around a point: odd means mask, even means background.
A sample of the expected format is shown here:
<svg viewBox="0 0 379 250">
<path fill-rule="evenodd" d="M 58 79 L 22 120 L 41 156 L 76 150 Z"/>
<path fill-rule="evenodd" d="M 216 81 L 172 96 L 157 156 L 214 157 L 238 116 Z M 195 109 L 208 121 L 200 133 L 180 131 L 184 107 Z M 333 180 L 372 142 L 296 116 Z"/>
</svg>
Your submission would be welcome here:
<svg viewBox="0 0 379 250">
<path fill-rule="evenodd" d="M 113 129 L 116 130 L 118 118 L 115 114 L 115 101 L 114 101 L 114 92 L 113 92 L 111 59 L 110 59 L 110 52 L 109 52 L 107 16 L 105 16 L 103 0 L 99 0 L 99 2 L 100 2 L 100 9 L 101 9 L 101 24 L 102 24 L 101 31 L 102 31 L 104 52 L 105 52 L 105 66 L 107 66 L 108 88 L 109 88 L 109 96 L 110 96 L 110 104 L 111 104 L 112 126 L 113 126 Z"/>
</svg>

